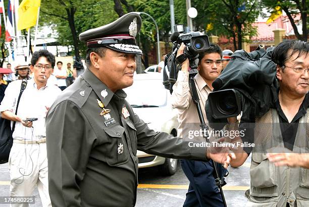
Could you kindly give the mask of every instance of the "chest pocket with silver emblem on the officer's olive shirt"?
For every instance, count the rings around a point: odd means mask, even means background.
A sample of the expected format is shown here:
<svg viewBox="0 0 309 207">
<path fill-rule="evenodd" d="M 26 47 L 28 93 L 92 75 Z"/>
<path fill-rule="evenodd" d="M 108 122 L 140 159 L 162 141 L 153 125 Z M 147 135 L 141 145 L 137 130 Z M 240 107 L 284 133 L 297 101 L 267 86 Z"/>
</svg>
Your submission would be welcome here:
<svg viewBox="0 0 309 207">
<path fill-rule="evenodd" d="M 118 166 L 129 161 L 129 152 L 124 138 L 124 128 L 116 125 L 105 129 L 109 142 L 107 143 L 106 160 L 110 166 Z"/>
</svg>

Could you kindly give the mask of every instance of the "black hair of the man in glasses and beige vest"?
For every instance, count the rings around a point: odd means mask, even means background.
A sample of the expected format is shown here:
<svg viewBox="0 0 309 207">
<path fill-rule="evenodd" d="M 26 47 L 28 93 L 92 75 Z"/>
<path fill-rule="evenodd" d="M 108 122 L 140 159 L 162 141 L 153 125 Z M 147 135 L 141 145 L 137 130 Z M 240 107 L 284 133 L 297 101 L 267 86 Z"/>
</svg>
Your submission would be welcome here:
<svg viewBox="0 0 309 207">
<path fill-rule="evenodd" d="M 291 55 L 288 56 L 289 49 L 292 50 Z M 280 42 L 272 51 L 272 61 L 278 66 L 283 67 L 285 62 L 291 58 L 295 53 L 298 53 L 297 58 L 305 54 L 307 56 L 309 51 L 309 43 L 301 40 L 285 40 Z M 282 68 L 284 70 L 284 67 Z"/>
</svg>

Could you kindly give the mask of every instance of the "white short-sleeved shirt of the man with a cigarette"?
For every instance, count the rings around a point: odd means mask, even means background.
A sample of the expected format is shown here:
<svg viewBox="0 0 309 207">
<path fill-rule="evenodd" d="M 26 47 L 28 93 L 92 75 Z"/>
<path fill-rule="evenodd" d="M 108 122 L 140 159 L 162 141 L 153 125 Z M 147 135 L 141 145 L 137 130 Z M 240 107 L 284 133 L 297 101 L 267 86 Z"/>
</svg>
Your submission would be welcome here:
<svg viewBox="0 0 309 207">
<path fill-rule="evenodd" d="M 11 82 L 6 91 L 5 97 L 0 105 L 0 112 L 11 111 L 15 114 L 20 86 L 22 80 Z M 21 95 L 17 116 L 25 120 L 26 118 L 38 118 L 34 121 L 33 128 L 25 127 L 21 122 L 16 122 L 13 132 L 14 139 L 35 140 L 37 136 L 46 136 L 45 133 L 45 118 L 46 108 L 50 107 L 61 93 L 61 90 L 56 85 L 46 85 L 37 89 L 34 79 L 27 81 L 27 87 Z M 13 121 L 11 121 L 13 127 Z"/>
</svg>

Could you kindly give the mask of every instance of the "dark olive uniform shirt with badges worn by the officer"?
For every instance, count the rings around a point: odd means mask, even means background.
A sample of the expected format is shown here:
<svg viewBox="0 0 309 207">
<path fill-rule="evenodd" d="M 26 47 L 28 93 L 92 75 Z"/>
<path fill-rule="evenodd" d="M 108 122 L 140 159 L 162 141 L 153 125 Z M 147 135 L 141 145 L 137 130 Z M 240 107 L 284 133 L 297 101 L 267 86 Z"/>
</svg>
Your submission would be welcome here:
<svg viewBox="0 0 309 207">
<path fill-rule="evenodd" d="M 53 206 L 134 206 L 136 150 L 207 160 L 182 138 L 148 128 L 125 100 L 90 70 L 60 95 L 46 118 L 48 184 Z M 100 116 L 100 100 L 108 116 Z M 126 113 L 126 108 L 129 112 Z"/>
</svg>

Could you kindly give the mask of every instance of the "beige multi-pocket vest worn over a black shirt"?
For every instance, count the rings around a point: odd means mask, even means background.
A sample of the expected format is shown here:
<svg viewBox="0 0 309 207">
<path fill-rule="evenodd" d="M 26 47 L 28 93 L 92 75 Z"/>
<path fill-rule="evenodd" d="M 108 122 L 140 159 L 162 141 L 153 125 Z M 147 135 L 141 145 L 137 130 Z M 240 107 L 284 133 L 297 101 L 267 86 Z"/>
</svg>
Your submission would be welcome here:
<svg viewBox="0 0 309 207">
<path fill-rule="evenodd" d="M 309 110 L 300 118 L 293 153 L 308 153 Z M 250 196 L 247 206 L 309 206 L 309 170 L 276 167 L 267 152 L 283 152 L 279 115 L 274 109 L 256 119 L 255 147 L 250 167 Z M 276 147 L 276 148 L 275 148 Z M 278 149 L 281 147 L 281 149 Z M 277 151 L 276 151 L 277 150 Z"/>
</svg>

